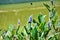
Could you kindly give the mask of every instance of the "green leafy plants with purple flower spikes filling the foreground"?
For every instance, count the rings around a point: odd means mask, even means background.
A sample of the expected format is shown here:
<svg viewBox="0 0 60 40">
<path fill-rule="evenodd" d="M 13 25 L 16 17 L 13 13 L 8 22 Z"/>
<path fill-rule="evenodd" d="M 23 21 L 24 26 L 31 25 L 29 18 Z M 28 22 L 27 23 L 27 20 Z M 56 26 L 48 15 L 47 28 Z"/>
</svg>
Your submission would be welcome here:
<svg viewBox="0 0 60 40">
<path fill-rule="evenodd" d="M 44 3 L 44 6 L 50 12 L 49 21 L 45 21 L 45 16 L 41 13 L 38 15 L 38 22 L 29 17 L 27 25 L 20 28 L 18 20 L 18 28 L 16 25 L 9 25 L 9 29 L 2 33 L 4 40 L 58 40 L 58 29 L 56 28 L 57 16 L 56 10 Z M 52 31 L 53 30 L 53 31 Z"/>
</svg>

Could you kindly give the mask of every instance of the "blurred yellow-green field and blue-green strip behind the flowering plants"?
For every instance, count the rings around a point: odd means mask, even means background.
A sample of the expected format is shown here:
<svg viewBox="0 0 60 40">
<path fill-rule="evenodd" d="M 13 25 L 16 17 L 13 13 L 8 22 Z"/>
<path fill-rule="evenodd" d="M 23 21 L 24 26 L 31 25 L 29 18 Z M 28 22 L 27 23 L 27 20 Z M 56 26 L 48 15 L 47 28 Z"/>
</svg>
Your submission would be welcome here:
<svg viewBox="0 0 60 40">
<path fill-rule="evenodd" d="M 46 21 L 48 21 L 49 11 L 43 3 L 51 5 L 50 0 L 0 0 L 0 29 L 4 31 L 8 29 L 9 24 L 17 25 L 18 19 L 20 19 L 20 25 L 24 26 L 30 15 L 37 20 L 40 12 L 47 15 Z M 60 18 L 60 0 L 54 0 L 54 4 Z"/>
</svg>

